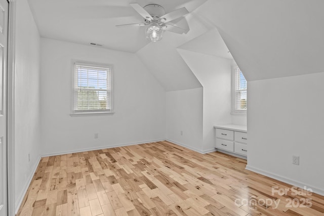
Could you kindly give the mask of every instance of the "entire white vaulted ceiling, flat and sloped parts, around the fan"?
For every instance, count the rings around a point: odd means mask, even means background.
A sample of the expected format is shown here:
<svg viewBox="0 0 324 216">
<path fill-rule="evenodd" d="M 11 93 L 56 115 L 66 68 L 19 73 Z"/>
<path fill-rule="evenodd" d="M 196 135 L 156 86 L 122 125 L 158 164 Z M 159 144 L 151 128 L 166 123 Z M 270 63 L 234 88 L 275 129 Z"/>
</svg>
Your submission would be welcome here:
<svg viewBox="0 0 324 216">
<path fill-rule="evenodd" d="M 201 87 L 178 48 L 233 56 L 248 81 L 324 72 L 322 0 L 28 2 L 41 36 L 136 53 L 166 91 Z M 115 27 L 143 21 L 129 5 L 134 2 L 161 5 L 166 13 L 186 7 L 191 13 L 178 25 L 189 25 L 190 31 L 165 32 L 161 41 L 148 42 L 143 27 Z"/>
</svg>

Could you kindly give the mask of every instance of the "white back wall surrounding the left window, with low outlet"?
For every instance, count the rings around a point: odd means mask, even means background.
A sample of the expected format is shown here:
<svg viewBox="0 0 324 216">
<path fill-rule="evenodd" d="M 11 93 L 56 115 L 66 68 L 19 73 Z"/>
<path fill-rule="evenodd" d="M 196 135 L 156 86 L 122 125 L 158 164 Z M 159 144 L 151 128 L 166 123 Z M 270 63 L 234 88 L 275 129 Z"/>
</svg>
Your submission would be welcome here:
<svg viewBox="0 0 324 216">
<path fill-rule="evenodd" d="M 73 59 L 113 65 L 113 115 L 69 115 Z M 41 69 L 43 154 L 166 138 L 166 92 L 135 54 L 42 38 Z"/>
</svg>

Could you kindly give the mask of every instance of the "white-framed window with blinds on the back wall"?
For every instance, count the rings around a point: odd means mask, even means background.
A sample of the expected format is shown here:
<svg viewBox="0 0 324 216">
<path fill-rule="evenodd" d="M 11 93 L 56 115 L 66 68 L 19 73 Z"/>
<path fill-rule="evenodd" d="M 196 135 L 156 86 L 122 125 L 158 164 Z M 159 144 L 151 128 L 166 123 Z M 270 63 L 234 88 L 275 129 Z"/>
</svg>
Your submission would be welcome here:
<svg viewBox="0 0 324 216">
<path fill-rule="evenodd" d="M 112 112 L 111 67 L 74 63 L 73 113 Z"/>
</svg>

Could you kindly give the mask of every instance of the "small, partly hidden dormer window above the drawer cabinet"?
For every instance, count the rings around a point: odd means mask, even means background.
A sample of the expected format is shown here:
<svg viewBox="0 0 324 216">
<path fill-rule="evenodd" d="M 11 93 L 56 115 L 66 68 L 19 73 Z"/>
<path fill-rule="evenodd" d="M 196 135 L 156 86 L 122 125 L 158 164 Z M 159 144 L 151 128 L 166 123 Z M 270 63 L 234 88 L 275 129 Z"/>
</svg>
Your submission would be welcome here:
<svg viewBox="0 0 324 216">
<path fill-rule="evenodd" d="M 234 91 L 233 91 L 233 112 L 247 112 L 247 80 L 238 67 L 234 68 Z"/>
</svg>

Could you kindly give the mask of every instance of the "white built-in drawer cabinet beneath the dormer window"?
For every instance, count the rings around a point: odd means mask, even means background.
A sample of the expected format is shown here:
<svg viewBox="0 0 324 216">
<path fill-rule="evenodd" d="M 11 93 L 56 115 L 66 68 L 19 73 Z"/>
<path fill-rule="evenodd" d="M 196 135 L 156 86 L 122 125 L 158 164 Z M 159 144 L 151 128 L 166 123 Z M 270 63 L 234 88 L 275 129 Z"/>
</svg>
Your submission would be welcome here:
<svg viewBox="0 0 324 216">
<path fill-rule="evenodd" d="M 217 125 L 215 128 L 215 148 L 221 152 L 247 158 L 247 126 L 237 124 Z"/>
</svg>

